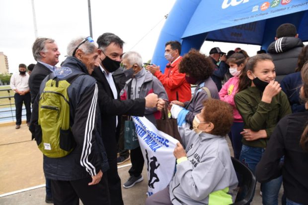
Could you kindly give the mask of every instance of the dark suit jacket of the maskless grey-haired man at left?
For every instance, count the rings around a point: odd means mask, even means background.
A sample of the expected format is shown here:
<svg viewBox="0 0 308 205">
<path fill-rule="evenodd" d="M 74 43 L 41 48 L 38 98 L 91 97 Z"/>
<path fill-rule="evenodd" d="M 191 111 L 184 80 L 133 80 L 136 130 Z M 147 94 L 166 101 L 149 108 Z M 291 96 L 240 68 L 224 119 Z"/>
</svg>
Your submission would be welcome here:
<svg viewBox="0 0 308 205">
<path fill-rule="evenodd" d="M 52 73 L 52 71 L 41 63 L 37 63 L 34 66 L 29 76 L 29 88 L 32 104 L 34 103 L 37 93 L 39 92 L 41 82 L 47 75 L 49 75 L 49 73 Z"/>
</svg>

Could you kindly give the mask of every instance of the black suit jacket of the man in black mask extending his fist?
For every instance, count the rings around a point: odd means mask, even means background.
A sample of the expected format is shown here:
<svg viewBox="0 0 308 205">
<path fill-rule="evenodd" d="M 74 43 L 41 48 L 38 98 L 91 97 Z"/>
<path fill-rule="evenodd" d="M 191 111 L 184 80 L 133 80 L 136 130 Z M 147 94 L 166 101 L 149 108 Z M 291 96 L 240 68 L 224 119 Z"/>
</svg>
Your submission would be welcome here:
<svg viewBox="0 0 308 205">
<path fill-rule="evenodd" d="M 118 91 L 118 99 L 114 99 L 109 83 L 99 67 L 94 68 L 92 76 L 97 81 L 98 86 L 98 105 L 101 112 L 101 123 L 103 132 L 103 141 L 106 146 L 108 155 L 108 138 L 116 137 L 116 116 L 117 115 L 134 115 L 144 116 L 146 100 L 120 100 L 120 91 Z M 120 123 L 118 123 L 119 125 Z M 106 143 L 105 143 L 106 142 Z M 116 146 L 116 144 L 115 144 Z"/>
</svg>

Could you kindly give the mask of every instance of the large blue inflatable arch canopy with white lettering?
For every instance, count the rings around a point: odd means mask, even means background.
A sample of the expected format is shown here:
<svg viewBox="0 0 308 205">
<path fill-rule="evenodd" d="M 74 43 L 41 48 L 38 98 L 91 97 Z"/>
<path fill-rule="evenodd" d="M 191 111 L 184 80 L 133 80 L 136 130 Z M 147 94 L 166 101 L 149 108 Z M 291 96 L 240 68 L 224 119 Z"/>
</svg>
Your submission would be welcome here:
<svg viewBox="0 0 308 205">
<path fill-rule="evenodd" d="M 205 40 L 260 45 L 267 49 L 283 23 L 297 27 L 308 41 L 307 0 L 177 0 L 161 30 L 152 63 L 163 71 L 164 45 L 177 40 L 181 54 L 200 49 Z"/>
</svg>

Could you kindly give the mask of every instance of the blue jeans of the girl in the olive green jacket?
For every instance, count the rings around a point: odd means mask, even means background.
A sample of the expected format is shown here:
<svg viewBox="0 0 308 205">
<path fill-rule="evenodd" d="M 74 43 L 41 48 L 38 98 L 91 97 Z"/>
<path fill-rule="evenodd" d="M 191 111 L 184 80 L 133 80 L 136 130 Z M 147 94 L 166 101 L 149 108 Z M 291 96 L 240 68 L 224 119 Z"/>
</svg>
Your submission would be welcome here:
<svg viewBox="0 0 308 205">
<path fill-rule="evenodd" d="M 264 153 L 264 148 L 242 145 L 239 160 L 255 174 L 255 168 Z M 278 205 L 278 194 L 282 184 L 282 176 L 267 183 L 262 183 L 263 205 Z"/>
</svg>

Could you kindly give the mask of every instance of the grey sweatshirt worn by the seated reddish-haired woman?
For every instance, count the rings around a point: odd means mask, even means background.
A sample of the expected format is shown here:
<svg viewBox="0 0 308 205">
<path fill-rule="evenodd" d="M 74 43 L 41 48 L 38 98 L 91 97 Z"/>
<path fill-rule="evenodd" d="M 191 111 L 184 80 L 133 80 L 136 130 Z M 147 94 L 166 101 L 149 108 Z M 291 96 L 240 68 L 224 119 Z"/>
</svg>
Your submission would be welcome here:
<svg viewBox="0 0 308 205">
<path fill-rule="evenodd" d="M 222 196 L 213 192 L 224 189 L 225 192 L 219 194 L 231 199 L 228 192 L 237 187 L 237 177 L 226 138 L 206 133 L 198 135 L 181 127 L 179 133 L 188 160 L 176 165 L 175 175 L 169 184 L 172 204 L 222 204 Z"/>
</svg>

